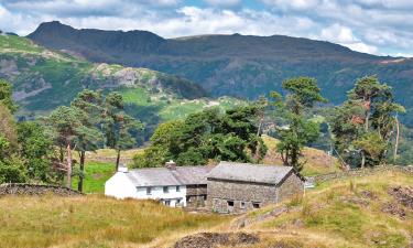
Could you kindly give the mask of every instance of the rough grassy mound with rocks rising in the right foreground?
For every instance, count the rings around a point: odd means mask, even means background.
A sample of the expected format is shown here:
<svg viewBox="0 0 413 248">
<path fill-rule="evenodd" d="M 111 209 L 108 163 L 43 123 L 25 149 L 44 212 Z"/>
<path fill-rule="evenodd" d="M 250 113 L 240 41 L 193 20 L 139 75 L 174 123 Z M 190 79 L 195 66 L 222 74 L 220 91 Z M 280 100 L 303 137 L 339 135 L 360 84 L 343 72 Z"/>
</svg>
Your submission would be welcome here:
<svg viewBox="0 0 413 248">
<path fill-rule="evenodd" d="M 263 242 L 256 247 L 409 247 L 413 241 L 413 209 L 404 208 L 405 219 L 383 213 L 391 186 L 412 186 L 413 177 L 395 172 L 330 181 L 308 191 L 302 201 L 286 205 L 290 212 L 247 229 L 263 231 Z M 372 197 L 366 196 L 366 192 Z M 258 216 L 270 206 L 251 213 Z M 290 245 L 290 246 L 287 246 Z M 276 247 L 276 246 L 274 246 Z"/>
</svg>

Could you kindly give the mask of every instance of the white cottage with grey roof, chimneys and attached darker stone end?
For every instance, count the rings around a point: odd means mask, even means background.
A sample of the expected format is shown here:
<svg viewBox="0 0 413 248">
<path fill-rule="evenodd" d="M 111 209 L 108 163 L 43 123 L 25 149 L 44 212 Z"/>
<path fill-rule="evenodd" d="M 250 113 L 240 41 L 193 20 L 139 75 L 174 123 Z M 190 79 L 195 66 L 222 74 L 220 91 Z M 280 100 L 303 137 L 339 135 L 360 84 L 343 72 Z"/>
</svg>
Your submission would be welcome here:
<svg viewBox="0 0 413 248">
<path fill-rule="evenodd" d="M 176 166 L 128 171 L 120 168 L 105 184 L 105 195 L 117 198 L 159 200 L 169 206 L 204 206 L 209 166 Z"/>
</svg>

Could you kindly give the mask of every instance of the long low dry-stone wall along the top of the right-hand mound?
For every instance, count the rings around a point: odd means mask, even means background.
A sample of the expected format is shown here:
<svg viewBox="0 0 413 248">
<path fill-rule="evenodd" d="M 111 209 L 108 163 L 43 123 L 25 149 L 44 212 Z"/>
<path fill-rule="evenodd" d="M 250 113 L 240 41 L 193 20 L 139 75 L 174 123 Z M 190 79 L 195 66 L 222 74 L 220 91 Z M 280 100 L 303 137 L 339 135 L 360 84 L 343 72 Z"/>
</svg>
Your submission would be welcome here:
<svg viewBox="0 0 413 248">
<path fill-rule="evenodd" d="M 347 179 L 347 177 L 357 177 L 357 176 L 366 176 L 371 175 L 377 172 L 385 172 L 385 171 L 398 171 L 413 175 L 413 166 L 398 166 L 398 165 L 383 165 L 383 166 L 376 166 L 376 168 L 367 168 L 367 169 L 354 169 L 344 172 L 336 172 L 330 174 L 317 175 L 314 177 L 316 183 L 336 180 L 336 179 Z"/>
</svg>

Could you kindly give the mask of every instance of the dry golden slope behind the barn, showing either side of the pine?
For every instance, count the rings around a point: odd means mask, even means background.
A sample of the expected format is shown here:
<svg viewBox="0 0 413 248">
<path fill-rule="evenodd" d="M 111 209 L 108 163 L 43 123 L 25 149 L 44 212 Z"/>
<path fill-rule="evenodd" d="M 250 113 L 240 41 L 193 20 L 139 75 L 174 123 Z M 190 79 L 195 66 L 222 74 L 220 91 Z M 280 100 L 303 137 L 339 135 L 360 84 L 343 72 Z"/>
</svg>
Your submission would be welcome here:
<svg viewBox="0 0 413 248">
<path fill-rule="evenodd" d="M 280 154 L 275 152 L 275 145 L 280 141 L 269 136 L 262 136 L 262 139 L 269 148 L 263 162 L 265 164 L 282 164 Z M 306 161 L 302 171 L 304 175 L 327 174 L 340 171 L 338 160 L 324 151 L 305 148 L 303 153 L 304 158 L 302 160 Z"/>
</svg>

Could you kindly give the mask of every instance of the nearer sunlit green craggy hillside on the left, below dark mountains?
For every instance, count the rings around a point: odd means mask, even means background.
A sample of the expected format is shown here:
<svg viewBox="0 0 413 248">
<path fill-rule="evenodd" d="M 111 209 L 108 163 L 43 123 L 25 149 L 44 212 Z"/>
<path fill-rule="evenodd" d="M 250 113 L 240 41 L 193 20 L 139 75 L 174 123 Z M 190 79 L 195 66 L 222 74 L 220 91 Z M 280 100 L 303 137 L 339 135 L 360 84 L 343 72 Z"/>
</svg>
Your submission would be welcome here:
<svg viewBox="0 0 413 248">
<path fill-rule="evenodd" d="M 45 115 L 59 105 L 68 105 L 84 88 L 120 91 L 126 110 L 146 123 L 145 138 L 161 121 L 209 106 L 229 108 L 241 103 L 228 97 L 207 98 L 199 85 L 185 78 L 148 68 L 91 63 L 7 34 L 0 34 L 0 78 L 13 84 L 20 118 Z"/>
</svg>

